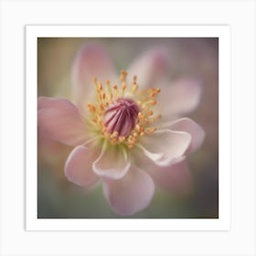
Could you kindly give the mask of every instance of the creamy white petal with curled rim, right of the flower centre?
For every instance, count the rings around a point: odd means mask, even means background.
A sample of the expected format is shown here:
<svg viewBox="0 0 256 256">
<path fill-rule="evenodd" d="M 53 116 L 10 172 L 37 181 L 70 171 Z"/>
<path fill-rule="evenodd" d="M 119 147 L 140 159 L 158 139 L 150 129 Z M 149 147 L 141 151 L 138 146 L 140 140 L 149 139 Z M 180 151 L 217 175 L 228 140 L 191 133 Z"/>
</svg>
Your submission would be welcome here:
<svg viewBox="0 0 256 256">
<path fill-rule="evenodd" d="M 144 155 L 155 165 L 167 166 L 180 162 L 191 142 L 189 133 L 171 130 L 159 130 L 142 139 L 141 149 Z"/>
</svg>

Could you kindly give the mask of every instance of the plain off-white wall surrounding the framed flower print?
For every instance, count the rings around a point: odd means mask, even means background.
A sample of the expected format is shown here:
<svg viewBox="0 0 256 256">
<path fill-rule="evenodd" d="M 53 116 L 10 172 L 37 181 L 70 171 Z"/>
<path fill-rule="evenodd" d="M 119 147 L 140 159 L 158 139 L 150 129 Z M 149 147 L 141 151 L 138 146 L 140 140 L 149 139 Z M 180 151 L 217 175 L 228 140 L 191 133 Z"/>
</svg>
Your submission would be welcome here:
<svg viewBox="0 0 256 256">
<path fill-rule="evenodd" d="M 256 255 L 254 0 L 0 1 L 0 255 Z M 228 231 L 25 229 L 25 26 L 229 25 L 231 176 Z"/>
</svg>

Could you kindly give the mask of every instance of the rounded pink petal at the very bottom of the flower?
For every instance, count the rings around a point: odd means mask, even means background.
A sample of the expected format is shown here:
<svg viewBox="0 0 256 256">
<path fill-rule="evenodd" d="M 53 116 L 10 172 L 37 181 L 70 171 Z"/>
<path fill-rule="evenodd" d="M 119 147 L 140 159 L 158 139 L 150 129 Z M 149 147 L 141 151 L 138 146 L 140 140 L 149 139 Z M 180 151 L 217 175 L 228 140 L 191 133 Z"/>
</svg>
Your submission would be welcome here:
<svg viewBox="0 0 256 256">
<path fill-rule="evenodd" d="M 150 204 L 155 185 L 144 171 L 131 166 L 122 179 L 105 180 L 103 192 L 114 212 L 119 215 L 133 215 Z"/>
</svg>

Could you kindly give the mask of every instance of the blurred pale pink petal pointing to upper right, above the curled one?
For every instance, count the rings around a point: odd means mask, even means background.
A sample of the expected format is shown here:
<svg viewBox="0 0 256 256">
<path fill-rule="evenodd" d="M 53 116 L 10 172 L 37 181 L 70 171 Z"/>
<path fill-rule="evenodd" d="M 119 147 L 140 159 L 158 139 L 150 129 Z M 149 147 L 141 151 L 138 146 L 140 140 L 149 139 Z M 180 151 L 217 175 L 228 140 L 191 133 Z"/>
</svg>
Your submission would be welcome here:
<svg viewBox="0 0 256 256">
<path fill-rule="evenodd" d="M 200 101 L 201 84 L 198 80 L 177 80 L 170 86 L 162 88 L 157 96 L 157 107 L 163 117 L 179 116 L 192 112 Z"/>
</svg>

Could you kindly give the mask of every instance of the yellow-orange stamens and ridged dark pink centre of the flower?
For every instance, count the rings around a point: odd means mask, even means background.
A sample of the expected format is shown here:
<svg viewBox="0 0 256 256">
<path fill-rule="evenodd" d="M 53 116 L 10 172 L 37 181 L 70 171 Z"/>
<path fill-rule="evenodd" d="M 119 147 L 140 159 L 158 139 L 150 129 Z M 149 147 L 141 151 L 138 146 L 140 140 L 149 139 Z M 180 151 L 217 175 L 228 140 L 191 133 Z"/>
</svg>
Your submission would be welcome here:
<svg viewBox="0 0 256 256">
<path fill-rule="evenodd" d="M 139 91 L 136 76 L 130 86 L 126 84 L 127 73 L 121 71 L 121 85 L 111 85 L 106 81 L 102 86 L 101 81 L 93 79 L 95 86 L 95 103 L 89 103 L 91 124 L 95 133 L 100 133 L 111 144 L 126 144 L 132 148 L 144 135 L 155 132 L 152 126 L 160 114 L 155 115 L 155 97 L 160 89 L 150 88 Z"/>
</svg>

